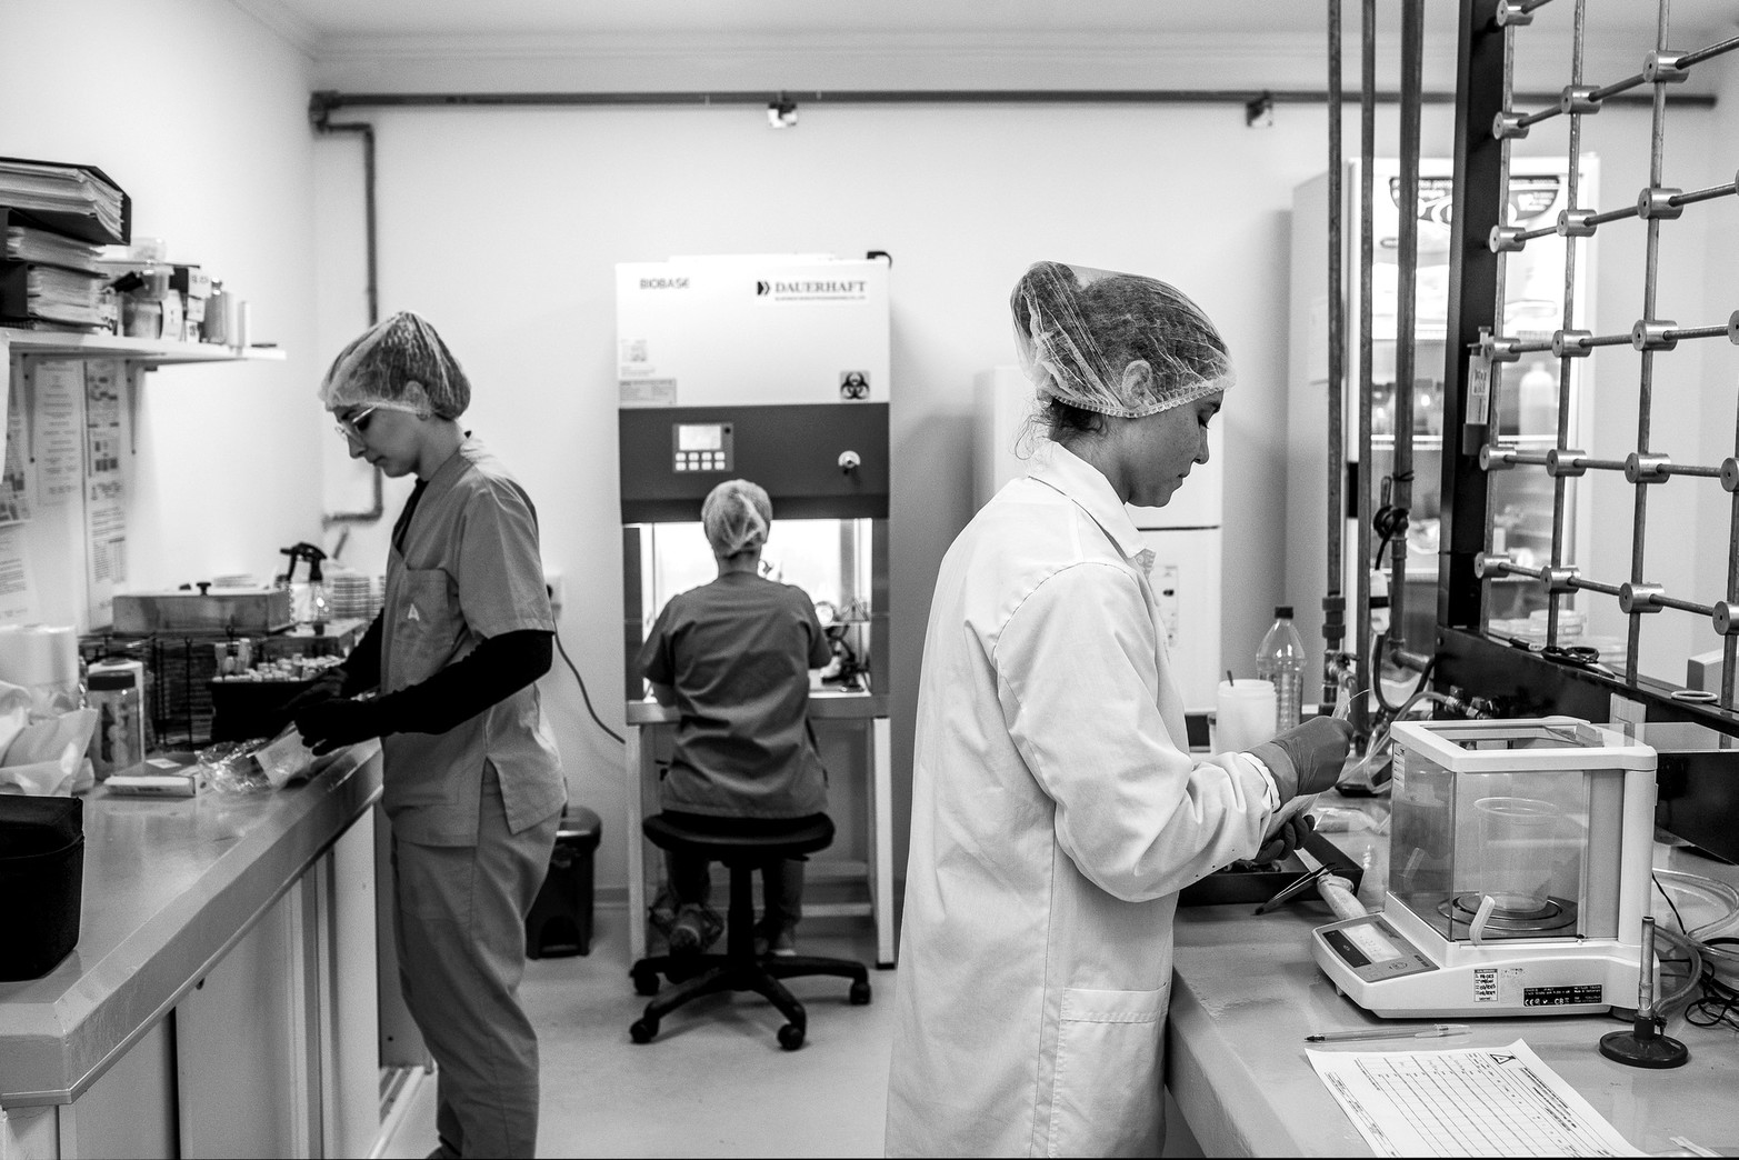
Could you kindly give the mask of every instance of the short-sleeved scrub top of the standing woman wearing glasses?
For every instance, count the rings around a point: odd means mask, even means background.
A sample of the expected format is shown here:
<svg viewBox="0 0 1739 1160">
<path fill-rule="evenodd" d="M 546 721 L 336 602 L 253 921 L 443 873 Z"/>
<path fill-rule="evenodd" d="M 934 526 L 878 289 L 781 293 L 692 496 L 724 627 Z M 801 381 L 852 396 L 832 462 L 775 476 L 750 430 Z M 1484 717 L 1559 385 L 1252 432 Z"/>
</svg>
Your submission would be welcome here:
<svg viewBox="0 0 1739 1160">
<path fill-rule="evenodd" d="M 388 558 L 383 617 L 381 692 L 428 680 L 487 637 L 555 631 L 537 513 L 478 440 L 468 437 L 423 489 Z M 447 732 L 393 734 L 381 748 L 386 814 L 407 842 L 475 845 L 485 763 L 513 833 L 567 802 L 536 682 Z"/>
</svg>

